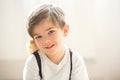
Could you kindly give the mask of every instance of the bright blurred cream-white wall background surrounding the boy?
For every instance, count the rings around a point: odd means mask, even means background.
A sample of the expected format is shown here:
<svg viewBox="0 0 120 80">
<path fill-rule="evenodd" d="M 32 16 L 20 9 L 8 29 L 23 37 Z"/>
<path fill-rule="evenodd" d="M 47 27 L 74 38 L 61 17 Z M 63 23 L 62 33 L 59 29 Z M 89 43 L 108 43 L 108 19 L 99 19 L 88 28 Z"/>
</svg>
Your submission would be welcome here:
<svg viewBox="0 0 120 80">
<path fill-rule="evenodd" d="M 0 80 L 22 80 L 26 18 L 51 2 L 66 13 L 66 43 L 85 59 L 91 80 L 120 80 L 120 0 L 0 0 Z"/>
</svg>

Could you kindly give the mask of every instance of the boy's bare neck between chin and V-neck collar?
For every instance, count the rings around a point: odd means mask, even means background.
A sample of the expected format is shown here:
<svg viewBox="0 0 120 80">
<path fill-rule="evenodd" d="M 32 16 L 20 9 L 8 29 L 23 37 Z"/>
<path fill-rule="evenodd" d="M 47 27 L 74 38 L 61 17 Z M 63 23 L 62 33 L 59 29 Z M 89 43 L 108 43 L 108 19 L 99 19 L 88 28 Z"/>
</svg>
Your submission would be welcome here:
<svg viewBox="0 0 120 80">
<path fill-rule="evenodd" d="M 53 63 L 59 64 L 65 55 L 65 48 L 59 50 L 54 55 L 47 56 Z"/>
</svg>

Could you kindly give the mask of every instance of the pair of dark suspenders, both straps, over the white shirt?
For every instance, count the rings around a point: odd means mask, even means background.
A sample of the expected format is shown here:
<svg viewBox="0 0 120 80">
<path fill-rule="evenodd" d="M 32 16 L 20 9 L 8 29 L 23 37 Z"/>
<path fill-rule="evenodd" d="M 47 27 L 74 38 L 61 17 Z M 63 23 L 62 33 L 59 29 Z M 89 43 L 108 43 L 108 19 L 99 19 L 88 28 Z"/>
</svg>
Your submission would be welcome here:
<svg viewBox="0 0 120 80">
<path fill-rule="evenodd" d="M 70 53 L 70 74 L 69 74 L 69 80 L 71 80 L 71 74 L 72 74 L 72 51 L 69 49 L 69 53 Z M 42 66 L 41 66 L 41 58 L 40 58 L 40 55 L 38 54 L 37 51 L 35 51 L 34 53 L 34 56 L 37 60 L 37 63 L 38 63 L 38 67 L 39 67 L 39 75 L 42 79 Z"/>
</svg>

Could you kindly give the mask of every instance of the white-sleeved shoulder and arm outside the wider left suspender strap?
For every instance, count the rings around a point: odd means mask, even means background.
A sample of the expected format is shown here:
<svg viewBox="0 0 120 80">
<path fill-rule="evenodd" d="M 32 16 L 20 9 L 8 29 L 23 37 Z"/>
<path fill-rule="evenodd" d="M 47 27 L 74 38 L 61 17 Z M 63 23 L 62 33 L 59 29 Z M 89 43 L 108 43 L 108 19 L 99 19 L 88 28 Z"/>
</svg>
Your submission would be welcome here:
<svg viewBox="0 0 120 80">
<path fill-rule="evenodd" d="M 23 80 L 40 80 L 39 79 L 39 68 L 37 65 L 36 58 L 33 54 L 28 56 L 24 70 L 23 70 Z"/>
</svg>

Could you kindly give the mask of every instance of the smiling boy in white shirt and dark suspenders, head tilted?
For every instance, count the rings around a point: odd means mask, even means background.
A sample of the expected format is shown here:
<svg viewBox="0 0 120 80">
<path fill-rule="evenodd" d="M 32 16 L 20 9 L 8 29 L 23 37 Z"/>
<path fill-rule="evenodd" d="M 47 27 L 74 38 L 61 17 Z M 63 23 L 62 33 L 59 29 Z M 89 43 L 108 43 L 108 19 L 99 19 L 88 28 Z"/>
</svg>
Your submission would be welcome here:
<svg viewBox="0 0 120 80">
<path fill-rule="evenodd" d="M 89 80 L 80 55 L 64 45 L 69 26 L 63 11 L 44 4 L 28 20 L 33 53 L 26 61 L 23 80 Z"/>
</svg>

